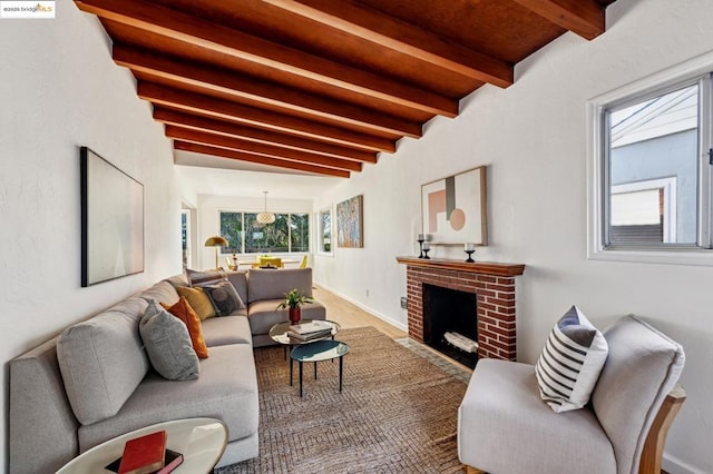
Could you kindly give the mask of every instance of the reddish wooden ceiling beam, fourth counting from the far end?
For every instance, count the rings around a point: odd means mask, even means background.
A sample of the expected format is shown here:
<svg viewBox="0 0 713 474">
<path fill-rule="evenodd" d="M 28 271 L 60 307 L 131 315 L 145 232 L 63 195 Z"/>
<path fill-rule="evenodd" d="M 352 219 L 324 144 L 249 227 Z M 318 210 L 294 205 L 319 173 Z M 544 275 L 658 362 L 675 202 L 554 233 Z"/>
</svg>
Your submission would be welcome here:
<svg viewBox="0 0 713 474">
<path fill-rule="evenodd" d="M 275 113 L 268 110 L 164 87 L 153 82 L 139 81 L 137 85 L 137 93 L 138 97 L 154 105 L 158 103 L 218 119 L 227 119 L 271 130 L 295 134 L 359 149 L 388 152 L 395 151 L 395 142 L 387 138 Z"/>
</svg>

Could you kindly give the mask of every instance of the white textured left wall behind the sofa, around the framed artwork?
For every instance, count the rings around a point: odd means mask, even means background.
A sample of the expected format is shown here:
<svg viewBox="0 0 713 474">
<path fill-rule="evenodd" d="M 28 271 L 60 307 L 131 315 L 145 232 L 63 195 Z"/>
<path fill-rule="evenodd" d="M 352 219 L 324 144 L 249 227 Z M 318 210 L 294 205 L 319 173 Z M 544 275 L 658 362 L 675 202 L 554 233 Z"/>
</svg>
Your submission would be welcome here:
<svg viewBox="0 0 713 474">
<path fill-rule="evenodd" d="M 173 156 L 96 17 L 58 1 L 53 20 L 0 20 L 0 359 L 180 271 Z M 146 270 L 80 287 L 79 147 L 144 184 Z M 7 470 L 8 367 L 2 374 Z"/>
</svg>

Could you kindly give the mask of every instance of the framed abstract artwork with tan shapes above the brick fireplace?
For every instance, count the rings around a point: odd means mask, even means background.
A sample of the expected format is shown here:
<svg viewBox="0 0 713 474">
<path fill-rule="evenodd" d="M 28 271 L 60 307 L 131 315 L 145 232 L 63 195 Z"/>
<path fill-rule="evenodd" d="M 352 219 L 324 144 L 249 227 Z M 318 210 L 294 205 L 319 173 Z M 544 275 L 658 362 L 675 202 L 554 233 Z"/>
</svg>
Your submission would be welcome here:
<svg viewBox="0 0 713 474">
<path fill-rule="evenodd" d="M 421 224 L 433 244 L 488 245 L 486 167 L 421 186 Z"/>
</svg>

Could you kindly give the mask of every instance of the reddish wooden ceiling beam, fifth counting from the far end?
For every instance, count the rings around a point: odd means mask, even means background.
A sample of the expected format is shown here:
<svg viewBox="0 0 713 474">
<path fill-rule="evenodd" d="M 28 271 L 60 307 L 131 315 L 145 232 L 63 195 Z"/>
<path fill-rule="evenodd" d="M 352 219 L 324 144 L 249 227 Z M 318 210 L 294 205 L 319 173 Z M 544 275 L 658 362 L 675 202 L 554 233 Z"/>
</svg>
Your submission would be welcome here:
<svg viewBox="0 0 713 474">
<path fill-rule="evenodd" d="M 241 77 L 234 71 L 201 67 L 189 61 L 178 61 L 120 45 L 114 46 L 113 58 L 114 62 L 133 71 L 266 103 L 299 115 L 315 116 L 333 122 L 411 138 L 419 138 L 422 135 L 421 124 L 275 83 L 256 81 Z"/>
</svg>

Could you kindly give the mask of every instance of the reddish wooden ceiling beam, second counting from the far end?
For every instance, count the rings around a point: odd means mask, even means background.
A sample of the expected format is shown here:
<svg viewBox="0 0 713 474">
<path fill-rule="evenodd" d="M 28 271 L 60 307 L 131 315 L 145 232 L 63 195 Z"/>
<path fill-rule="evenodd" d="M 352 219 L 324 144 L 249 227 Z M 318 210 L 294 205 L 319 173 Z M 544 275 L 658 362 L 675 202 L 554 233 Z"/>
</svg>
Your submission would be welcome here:
<svg viewBox="0 0 713 474">
<path fill-rule="evenodd" d="M 244 151 L 251 155 L 260 155 L 268 158 L 279 158 L 289 161 L 319 165 L 326 168 L 343 169 L 349 171 L 361 171 L 361 164 L 346 159 L 313 155 L 306 151 L 292 150 L 289 148 L 275 147 L 274 145 L 256 144 L 255 141 L 240 138 L 226 137 L 224 135 L 209 134 L 205 131 L 191 130 L 187 128 L 167 125 L 166 137 L 192 144 L 209 145 L 219 148 L 227 148 L 235 151 Z"/>
</svg>

